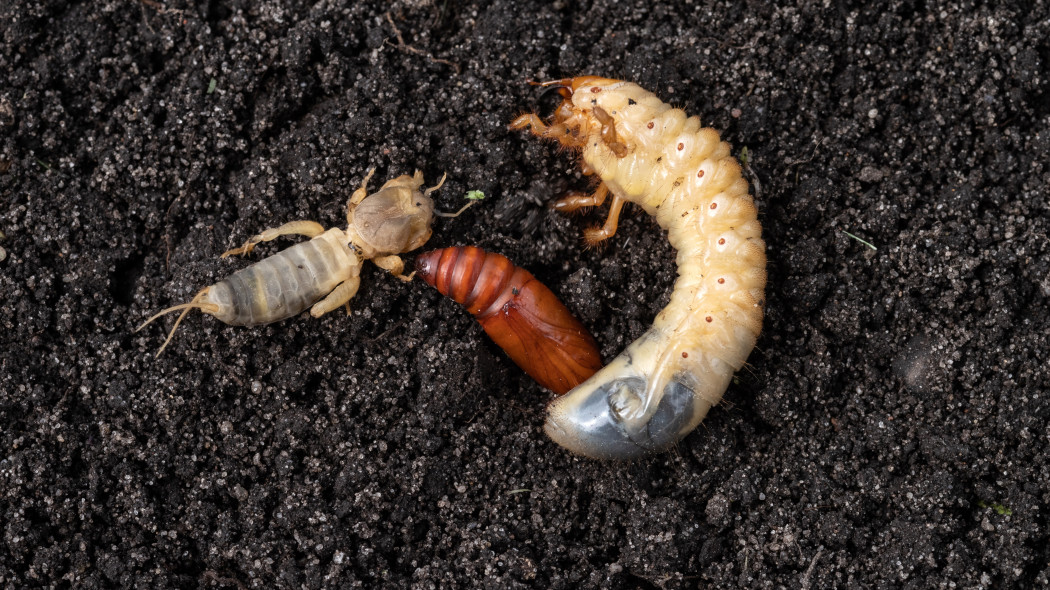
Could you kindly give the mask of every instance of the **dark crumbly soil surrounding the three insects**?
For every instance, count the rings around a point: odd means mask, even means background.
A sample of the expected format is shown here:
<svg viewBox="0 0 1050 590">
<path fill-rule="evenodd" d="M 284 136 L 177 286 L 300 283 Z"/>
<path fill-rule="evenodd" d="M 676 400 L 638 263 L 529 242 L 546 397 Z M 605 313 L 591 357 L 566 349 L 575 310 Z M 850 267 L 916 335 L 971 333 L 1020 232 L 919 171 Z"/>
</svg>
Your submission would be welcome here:
<svg viewBox="0 0 1050 590">
<path fill-rule="evenodd" d="M 1047 6 L 771 4 L 5 2 L 0 586 L 1050 584 Z M 486 195 L 428 247 L 507 255 L 611 358 L 674 252 L 633 207 L 584 248 L 601 213 L 547 205 L 591 181 L 507 129 L 578 75 L 699 114 L 760 207 L 764 331 L 670 452 L 559 448 L 547 392 L 371 262 L 349 316 L 134 331 L 419 169 Z"/>
</svg>

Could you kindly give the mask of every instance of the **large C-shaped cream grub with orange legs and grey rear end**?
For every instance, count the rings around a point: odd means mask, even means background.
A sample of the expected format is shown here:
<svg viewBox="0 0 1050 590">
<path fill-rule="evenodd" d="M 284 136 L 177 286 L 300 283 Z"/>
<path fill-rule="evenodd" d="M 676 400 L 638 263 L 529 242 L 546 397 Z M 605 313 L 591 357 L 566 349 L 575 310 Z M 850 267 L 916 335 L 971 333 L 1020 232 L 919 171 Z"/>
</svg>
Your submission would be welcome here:
<svg viewBox="0 0 1050 590">
<path fill-rule="evenodd" d="M 665 450 L 721 400 L 761 331 L 765 245 L 748 183 L 718 133 L 636 84 L 581 77 L 544 84 L 564 101 L 545 124 L 523 114 L 511 128 L 575 149 L 593 195 L 555 208 L 601 205 L 589 243 L 611 237 L 620 210 L 637 204 L 677 251 L 671 302 L 646 334 L 593 377 L 551 402 L 545 429 L 558 444 L 596 459 Z"/>
</svg>

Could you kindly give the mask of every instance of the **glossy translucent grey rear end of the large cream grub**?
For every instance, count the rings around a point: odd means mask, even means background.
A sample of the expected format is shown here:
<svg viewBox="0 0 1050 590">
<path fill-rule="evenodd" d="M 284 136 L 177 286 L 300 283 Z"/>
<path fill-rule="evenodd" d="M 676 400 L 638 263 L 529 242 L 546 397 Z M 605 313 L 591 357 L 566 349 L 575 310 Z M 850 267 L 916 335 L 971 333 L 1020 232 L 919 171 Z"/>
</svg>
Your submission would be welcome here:
<svg viewBox="0 0 1050 590">
<path fill-rule="evenodd" d="M 692 389 L 672 380 L 646 416 L 646 381 L 617 361 L 550 403 L 547 436 L 579 455 L 625 461 L 666 450 L 695 427 Z"/>
</svg>

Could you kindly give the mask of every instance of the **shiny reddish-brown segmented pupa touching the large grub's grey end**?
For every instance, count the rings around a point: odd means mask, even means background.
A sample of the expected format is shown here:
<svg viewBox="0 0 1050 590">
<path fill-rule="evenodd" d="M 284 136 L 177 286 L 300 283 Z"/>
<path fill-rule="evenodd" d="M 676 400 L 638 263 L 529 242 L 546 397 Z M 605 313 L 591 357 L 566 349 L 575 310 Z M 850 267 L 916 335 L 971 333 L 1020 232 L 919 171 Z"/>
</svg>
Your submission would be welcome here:
<svg viewBox="0 0 1050 590">
<path fill-rule="evenodd" d="M 469 311 L 518 366 L 564 394 L 602 367 L 597 342 L 564 303 L 506 256 L 472 246 L 416 258 L 427 285 Z"/>
</svg>

